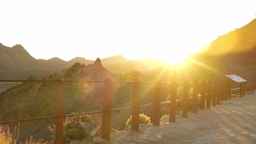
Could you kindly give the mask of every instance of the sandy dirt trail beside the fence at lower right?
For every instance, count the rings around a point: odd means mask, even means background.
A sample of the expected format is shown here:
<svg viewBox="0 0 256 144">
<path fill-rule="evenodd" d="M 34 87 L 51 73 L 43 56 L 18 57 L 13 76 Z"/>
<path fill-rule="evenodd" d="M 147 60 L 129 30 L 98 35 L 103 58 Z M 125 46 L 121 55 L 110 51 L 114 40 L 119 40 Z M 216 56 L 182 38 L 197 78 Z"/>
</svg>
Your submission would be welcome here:
<svg viewBox="0 0 256 144">
<path fill-rule="evenodd" d="M 174 123 L 166 117 L 160 127 L 142 124 L 140 130 L 115 131 L 110 143 L 256 143 L 256 95 L 177 116 Z"/>
</svg>

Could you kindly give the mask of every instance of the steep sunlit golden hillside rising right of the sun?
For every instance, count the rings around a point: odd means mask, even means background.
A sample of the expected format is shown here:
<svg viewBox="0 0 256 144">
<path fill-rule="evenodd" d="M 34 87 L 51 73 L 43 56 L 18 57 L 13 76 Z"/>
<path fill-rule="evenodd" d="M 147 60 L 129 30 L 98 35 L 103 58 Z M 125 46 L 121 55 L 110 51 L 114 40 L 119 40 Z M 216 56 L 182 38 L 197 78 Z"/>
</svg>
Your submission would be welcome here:
<svg viewBox="0 0 256 144">
<path fill-rule="evenodd" d="M 256 84 L 256 19 L 212 41 L 202 53 L 191 55 L 191 71 L 207 79 L 236 74 L 248 80 L 247 90 Z"/>
</svg>

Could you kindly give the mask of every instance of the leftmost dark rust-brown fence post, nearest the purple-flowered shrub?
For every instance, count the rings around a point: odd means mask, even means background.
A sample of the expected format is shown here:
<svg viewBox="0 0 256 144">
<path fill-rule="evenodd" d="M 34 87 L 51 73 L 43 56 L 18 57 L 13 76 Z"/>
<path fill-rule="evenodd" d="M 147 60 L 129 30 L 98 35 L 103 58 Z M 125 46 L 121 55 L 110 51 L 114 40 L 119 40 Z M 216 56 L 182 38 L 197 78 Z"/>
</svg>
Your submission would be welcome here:
<svg viewBox="0 0 256 144">
<path fill-rule="evenodd" d="M 56 82 L 56 121 L 55 121 L 55 142 L 63 143 L 63 94 L 64 78 L 57 76 Z"/>
</svg>

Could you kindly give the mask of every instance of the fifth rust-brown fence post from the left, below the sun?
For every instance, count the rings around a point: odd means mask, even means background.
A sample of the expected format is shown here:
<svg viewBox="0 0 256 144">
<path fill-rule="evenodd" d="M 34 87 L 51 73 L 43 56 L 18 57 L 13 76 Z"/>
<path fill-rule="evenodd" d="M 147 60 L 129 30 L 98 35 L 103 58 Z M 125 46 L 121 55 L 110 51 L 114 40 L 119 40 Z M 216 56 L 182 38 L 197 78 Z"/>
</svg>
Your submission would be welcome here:
<svg viewBox="0 0 256 144">
<path fill-rule="evenodd" d="M 176 116 L 176 96 L 177 96 L 177 87 L 176 87 L 176 81 L 173 80 L 171 83 L 171 95 L 170 95 L 170 117 L 169 122 L 175 122 L 175 116 Z"/>
</svg>

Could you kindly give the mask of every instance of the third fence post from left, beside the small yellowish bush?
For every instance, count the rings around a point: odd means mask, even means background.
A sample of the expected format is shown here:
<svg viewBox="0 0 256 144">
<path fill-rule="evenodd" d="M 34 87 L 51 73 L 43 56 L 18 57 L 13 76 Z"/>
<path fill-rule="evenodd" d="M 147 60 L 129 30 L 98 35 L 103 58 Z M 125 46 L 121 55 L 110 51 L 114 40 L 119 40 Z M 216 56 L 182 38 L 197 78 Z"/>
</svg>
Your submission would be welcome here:
<svg viewBox="0 0 256 144">
<path fill-rule="evenodd" d="M 131 129 L 139 131 L 139 105 L 141 104 L 141 80 L 135 79 L 132 92 L 132 122 Z"/>
</svg>

